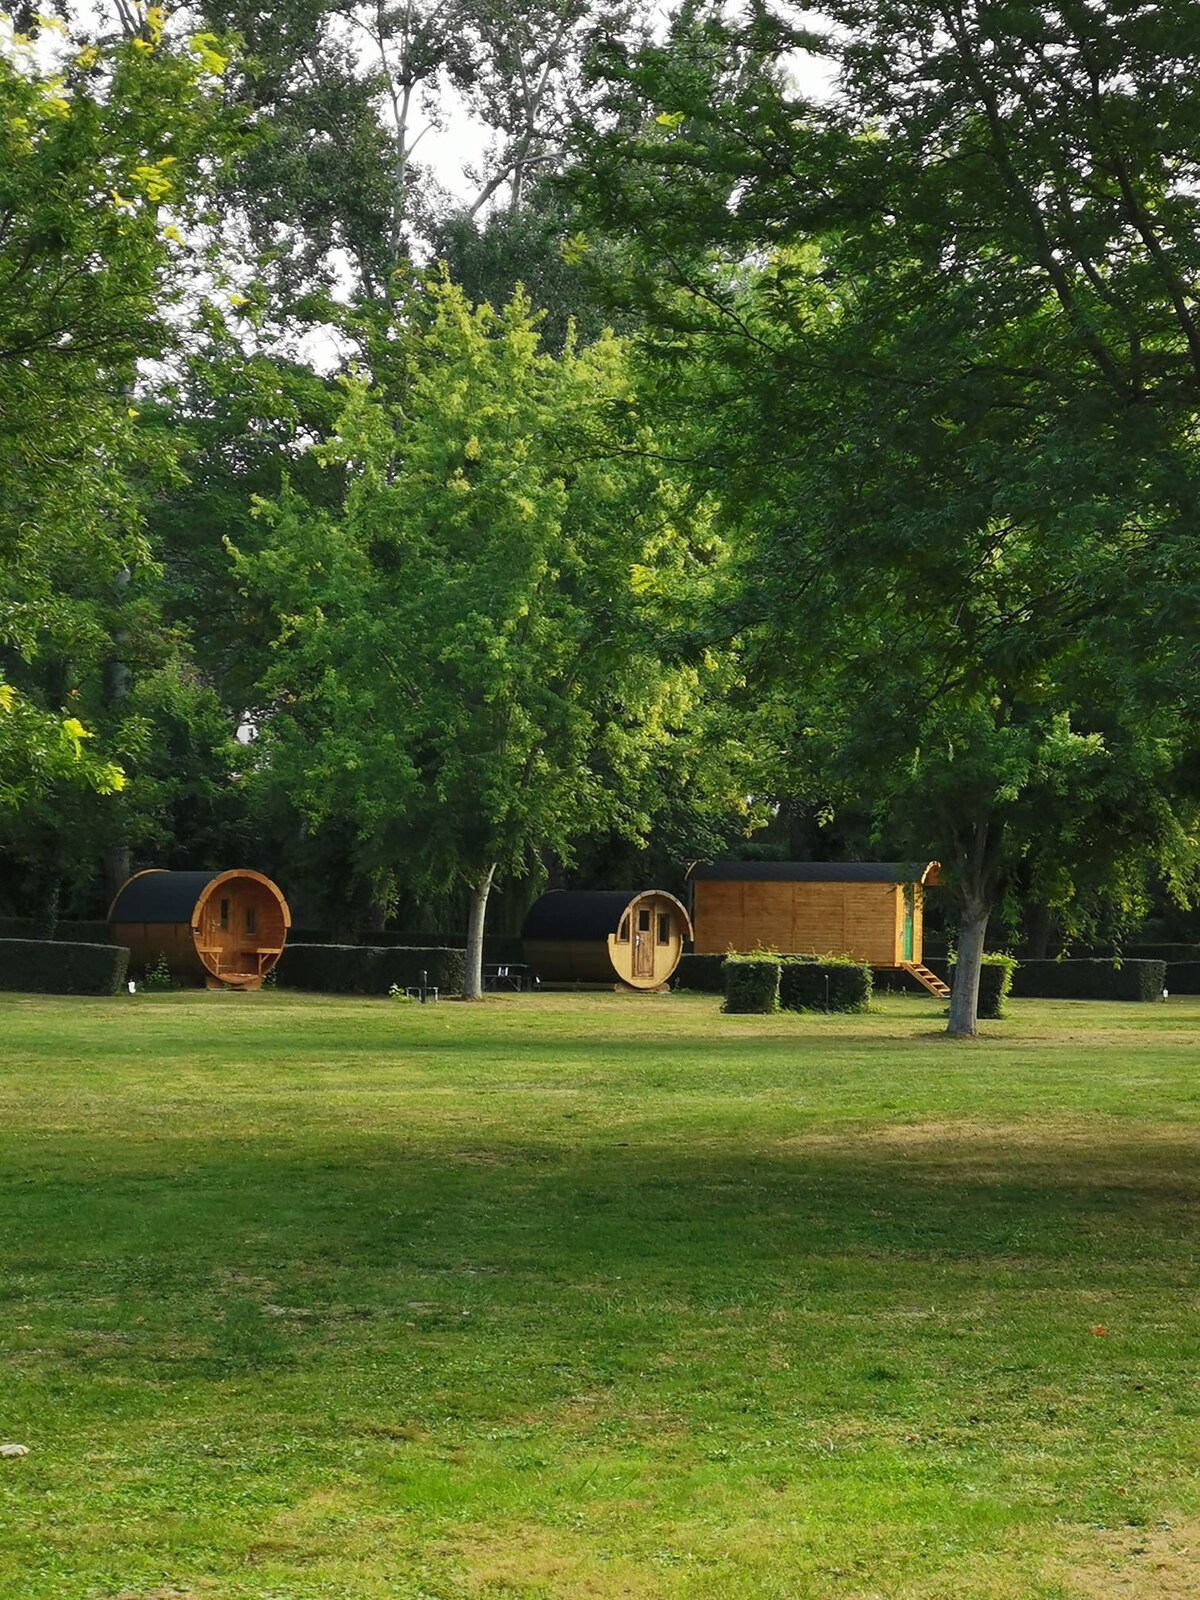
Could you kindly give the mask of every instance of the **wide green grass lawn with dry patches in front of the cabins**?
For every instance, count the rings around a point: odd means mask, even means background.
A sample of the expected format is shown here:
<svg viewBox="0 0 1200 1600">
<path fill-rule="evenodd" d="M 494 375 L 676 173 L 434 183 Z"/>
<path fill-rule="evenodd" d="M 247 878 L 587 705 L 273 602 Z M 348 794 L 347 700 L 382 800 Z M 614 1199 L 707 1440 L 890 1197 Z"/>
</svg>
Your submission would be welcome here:
<svg viewBox="0 0 1200 1600">
<path fill-rule="evenodd" d="M 0 997 L 3 1600 L 1200 1594 L 1200 1002 Z"/>
</svg>

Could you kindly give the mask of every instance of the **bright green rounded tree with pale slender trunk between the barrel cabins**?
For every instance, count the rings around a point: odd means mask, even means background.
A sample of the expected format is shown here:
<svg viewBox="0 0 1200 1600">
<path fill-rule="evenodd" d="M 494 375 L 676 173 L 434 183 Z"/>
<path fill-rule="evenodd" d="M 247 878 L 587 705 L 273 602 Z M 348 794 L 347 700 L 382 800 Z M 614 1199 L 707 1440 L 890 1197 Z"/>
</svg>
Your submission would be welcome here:
<svg viewBox="0 0 1200 1600">
<path fill-rule="evenodd" d="M 395 339 L 403 387 L 347 382 L 323 451 L 344 504 L 282 494 L 240 562 L 280 622 L 258 749 L 312 824 L 352 819 L 363 867 L 469 893 L 478 995 L 498 874 L 645 830 L 658 754 L 725 670 L 661 659 L 658 590 L 717 546 L 648 464 L 618 341 L 546 355 L 523 298 L 446 280 Z"/>
</svg>

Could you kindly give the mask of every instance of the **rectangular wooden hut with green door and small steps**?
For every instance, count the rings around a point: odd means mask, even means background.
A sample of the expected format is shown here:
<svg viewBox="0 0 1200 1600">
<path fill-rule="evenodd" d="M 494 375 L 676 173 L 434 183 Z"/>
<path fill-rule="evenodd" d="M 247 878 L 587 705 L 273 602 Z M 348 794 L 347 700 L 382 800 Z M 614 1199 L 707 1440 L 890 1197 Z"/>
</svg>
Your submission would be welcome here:
<svg viewBox="0 0 1200 1600">
<path fill-rule="evenodd" d="M 901 966 L 933 994 L 949 994 L 922 965 L 923 890 L 936 882 L 936 861 L 698 866 L 691 870 L 696 954 L 846 955 L 870 966 Z"/>
</svg>

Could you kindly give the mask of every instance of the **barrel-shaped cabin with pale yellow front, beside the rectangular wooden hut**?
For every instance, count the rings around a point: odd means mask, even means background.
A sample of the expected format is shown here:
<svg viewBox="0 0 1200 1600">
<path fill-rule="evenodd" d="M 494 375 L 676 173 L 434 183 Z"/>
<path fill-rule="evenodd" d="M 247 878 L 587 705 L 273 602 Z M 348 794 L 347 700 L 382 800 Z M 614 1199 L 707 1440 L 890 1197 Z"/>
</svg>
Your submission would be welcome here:
<svg viewBox="0 0 1200 1600">
<path fill-rule="evenodd" d="M 547 984 L 661 989 L 691 938 L 664 890 L 552 890 L 530 907 L 525 960 Z"/>
</svg>

